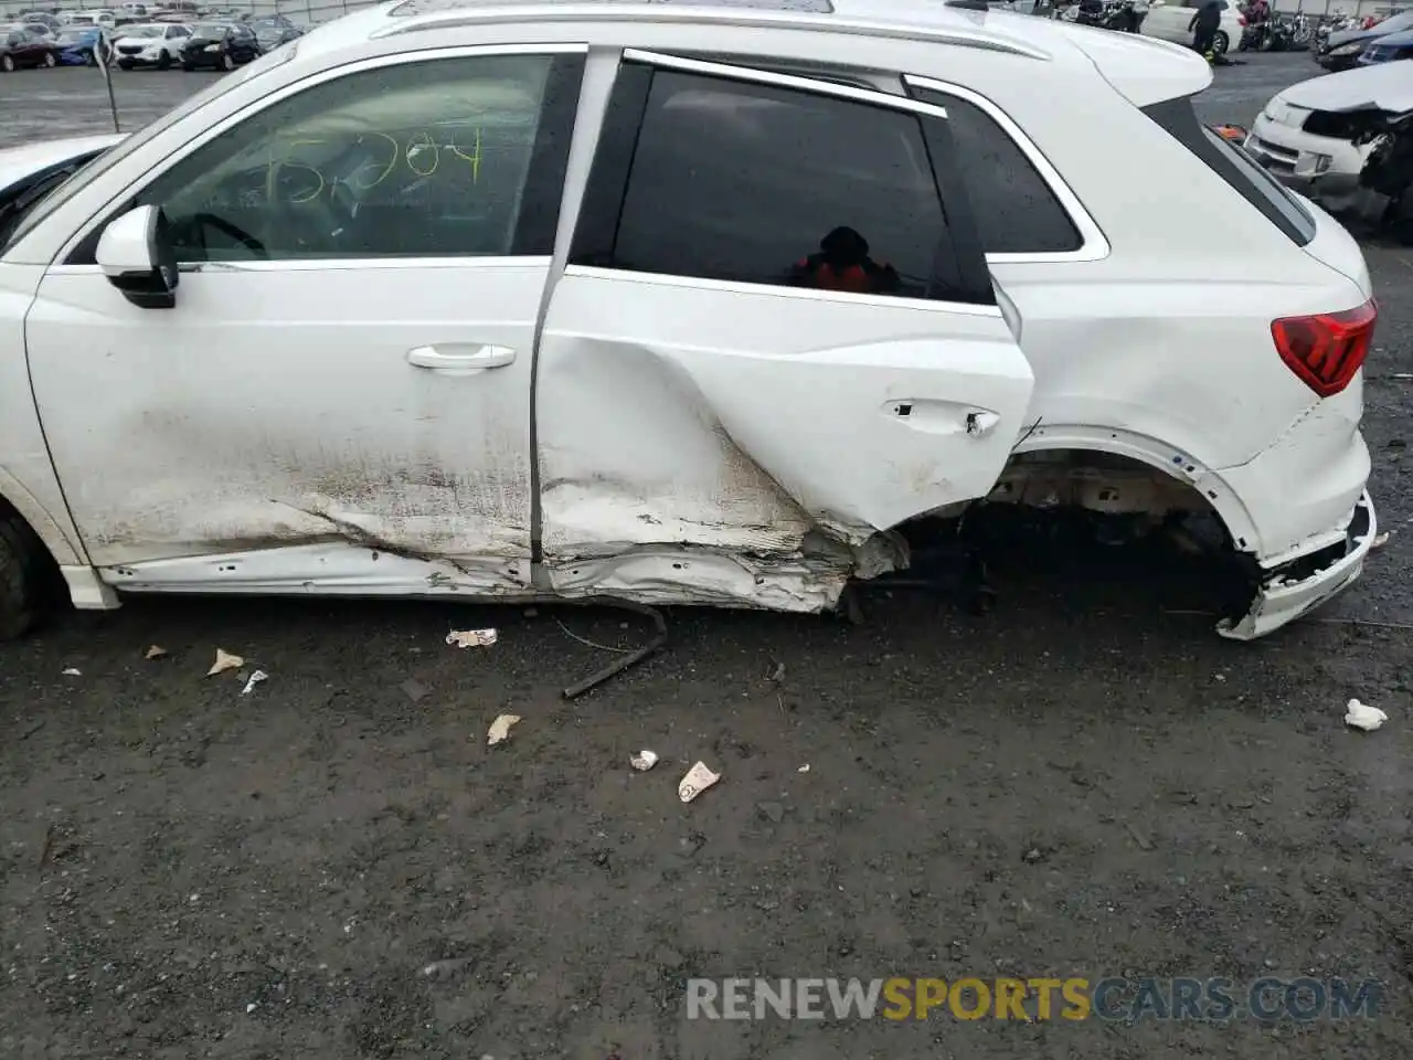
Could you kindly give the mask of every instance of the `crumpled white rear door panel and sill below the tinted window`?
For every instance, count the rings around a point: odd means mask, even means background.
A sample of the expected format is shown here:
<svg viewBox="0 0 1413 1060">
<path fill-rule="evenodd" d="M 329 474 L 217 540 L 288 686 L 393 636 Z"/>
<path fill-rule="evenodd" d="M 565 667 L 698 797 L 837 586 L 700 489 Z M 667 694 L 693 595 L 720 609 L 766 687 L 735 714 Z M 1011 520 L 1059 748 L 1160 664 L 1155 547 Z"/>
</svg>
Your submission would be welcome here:
<svg viewBox="0 0 1413 1060">
<path fill-rule="evenodd" d="M 885 531 L 986 495 L 1030 387 L 995 307 L 571 267 L 538 352 L 545 568 L 574 594 L 828 606 L 899 565 Z M 646 561 L 667 553 L 755 572 Z"/>
</svg>

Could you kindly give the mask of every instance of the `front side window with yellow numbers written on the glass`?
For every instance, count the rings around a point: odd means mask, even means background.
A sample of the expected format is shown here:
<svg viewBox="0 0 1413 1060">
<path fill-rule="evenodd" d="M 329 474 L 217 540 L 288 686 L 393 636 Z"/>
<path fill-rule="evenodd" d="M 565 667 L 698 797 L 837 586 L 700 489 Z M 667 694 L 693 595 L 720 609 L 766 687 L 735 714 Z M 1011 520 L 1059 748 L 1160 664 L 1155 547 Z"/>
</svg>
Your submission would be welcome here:
<svg viewBox="0 0 1413 1060">
<path fill-rule="evenodd" d="M 581 69 L 581 57 L 487 55 L 328 81 L 218 136 L 137 202 L 162 209 L 187 263 L 550 253 Z"/>
</svg>

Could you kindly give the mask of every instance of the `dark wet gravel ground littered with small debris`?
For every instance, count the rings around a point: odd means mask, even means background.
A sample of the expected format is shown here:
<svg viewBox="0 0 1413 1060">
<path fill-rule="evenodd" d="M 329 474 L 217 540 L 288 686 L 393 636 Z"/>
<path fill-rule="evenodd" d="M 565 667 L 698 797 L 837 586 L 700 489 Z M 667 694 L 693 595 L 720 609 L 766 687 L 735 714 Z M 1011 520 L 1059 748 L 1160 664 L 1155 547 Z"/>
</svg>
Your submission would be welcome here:
<svg viewBox="0 0 1413 1060">
<path fill-rule="evenodd" d="M 1311 72 L 1218 71 L 1204 117 L 1248 123 Z M 136 124 L 205 81 L 119 75 L 119 105 Z M 4 76 L 0 112 L 4 140 L 100 129 L 103 85 Z M 673 613 L 666 652 L 574 704 L 558 688 L 612 657 L 582 640 L 632 646 L 639 619 L 154 601 L 0 646 L 0 1054 L 1413 1056 L 1409 639 L 1328 620 L 1413 622 L 1389 377 L 1413 370 L 1413 253 L 1368 254 L 1395 534 L 1325 620 L 1266 642 L 1171 613 L 1201 605 L 1171 557 L 1031 541 L 996 558 L 986 618 L 904 594 L 859 628 Z M 449 649 L 451 623 L 500 642 Z M 216 647 L 270 680 L 205 678 Z M 1351 695 L 1389 725 L 1345 731 Z M 487 750 L 500 712 L 524 721 Z M 640 746 L 651 773 L 626 767 Z M 695 759 L 723 780 L 684 807 Z M 1379 979 L 1383 1008 L 712 1023 L 682 1003 L 688 977 L 1303 974 Z"/>
</svg>

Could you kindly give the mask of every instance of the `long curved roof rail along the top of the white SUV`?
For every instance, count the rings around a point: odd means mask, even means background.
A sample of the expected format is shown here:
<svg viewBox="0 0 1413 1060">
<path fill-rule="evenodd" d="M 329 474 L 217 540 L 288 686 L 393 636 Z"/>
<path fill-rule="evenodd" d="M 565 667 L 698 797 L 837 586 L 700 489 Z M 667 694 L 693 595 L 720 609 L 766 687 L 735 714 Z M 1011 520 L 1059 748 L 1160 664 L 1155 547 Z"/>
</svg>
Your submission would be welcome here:
<svg viewBox="0 0 1413 1060">
<path fill-rule="evenodd" d="M 413 0 L 415 3 L 415 0 Z M 393 8 L 396 10 L 396 8 Z M 374 30 L 372 40 L 401 37 L 404 34 L 430 33 L 469 25 L 493 25 L 497 23 L 671 23 L 674 25 L 732 25 L 779 30 L 812 30 L 846 34 L 853 37 L 885 37 L 904 41 L 927 41 L 931 44 L 952 44 L 961 48 L 981 48 L 1027 59 L 1048 61 L 1050 52 L 1023 44 L 1012 37 L 991 30 L 971 30 L 951 25 L 928 25 L 926 23 L 870 21 L 868 18 L 842 18 L 836 14 L 814 14 L 810 11 L 759 10 L 753 7 L 690 7 L 664 3 L 619 3 L 617 0 L 466 0 L 465 7 L 448 7 L 428 14 L 404 16 L 389 20 Z"/>
</svg>

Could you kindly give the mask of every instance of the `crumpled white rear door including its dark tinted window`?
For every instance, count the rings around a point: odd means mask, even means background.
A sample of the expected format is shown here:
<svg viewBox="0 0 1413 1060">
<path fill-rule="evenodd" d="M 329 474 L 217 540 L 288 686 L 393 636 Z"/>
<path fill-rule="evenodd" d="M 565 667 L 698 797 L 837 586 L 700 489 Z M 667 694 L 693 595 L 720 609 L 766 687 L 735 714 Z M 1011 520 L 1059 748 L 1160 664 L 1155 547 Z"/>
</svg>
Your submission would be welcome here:
<svg viewBox="0 0 1413 1060">
<path fill-rule="evenodd" d="M 551 578 L 989 492 L 1033 377 L 950 150 L 937 106 L 625 55 L 537 360 Z"/>
</svg>

